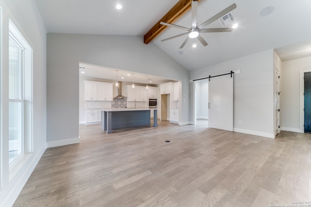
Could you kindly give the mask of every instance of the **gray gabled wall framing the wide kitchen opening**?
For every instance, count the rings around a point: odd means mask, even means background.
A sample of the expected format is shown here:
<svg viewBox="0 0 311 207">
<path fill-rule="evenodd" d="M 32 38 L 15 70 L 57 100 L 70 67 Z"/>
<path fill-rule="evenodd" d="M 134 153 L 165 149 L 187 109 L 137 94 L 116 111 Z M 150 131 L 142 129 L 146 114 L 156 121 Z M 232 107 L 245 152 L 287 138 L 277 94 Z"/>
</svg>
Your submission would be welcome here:
<svg viewBox="0 0 311 207">
<path fill-rule="evenodd" d="M 180 80 L 189 121 L 189 71 L 142 37 L 48 33 L 47 57 L 48 143 L 79 136 L 79 62 Z"/>
</svg>

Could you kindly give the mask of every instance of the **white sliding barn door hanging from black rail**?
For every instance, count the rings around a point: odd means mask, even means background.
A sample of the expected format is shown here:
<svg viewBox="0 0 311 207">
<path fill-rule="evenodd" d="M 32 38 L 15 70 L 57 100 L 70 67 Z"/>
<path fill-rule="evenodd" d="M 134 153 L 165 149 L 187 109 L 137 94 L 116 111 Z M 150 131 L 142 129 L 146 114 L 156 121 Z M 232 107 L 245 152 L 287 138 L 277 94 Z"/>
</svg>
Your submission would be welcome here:
<svg viewBox="0 0 311 207">
<path fill-rule="evenodd" d="M 233 131 L 233 77 L 210 79 L 208 105 L 208 127 Z"/>
</svg>

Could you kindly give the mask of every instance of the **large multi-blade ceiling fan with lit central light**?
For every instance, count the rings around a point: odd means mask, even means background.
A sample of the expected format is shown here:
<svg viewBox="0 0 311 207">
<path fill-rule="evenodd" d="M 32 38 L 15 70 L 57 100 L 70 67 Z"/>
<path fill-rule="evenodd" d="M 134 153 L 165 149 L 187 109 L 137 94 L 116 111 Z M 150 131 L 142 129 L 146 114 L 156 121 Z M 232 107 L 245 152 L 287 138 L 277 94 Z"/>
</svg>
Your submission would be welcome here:
<svg viewBox="0 0 311 207">
<path fill-rule="evenodd" d="M 228 14 L 229 12 L 231 12 L 232 10 L 234 10 L 235 8 L 237 8 L 237 5 L 234 3 L 231 6 L 227 7 L 226 9 L 224 9 L 223 11 L 221 11 L 220 13 L 218 13 L 217 15 L 211 17 L 210 19 L 208 19 L 207 21 L 203 22 L 201 25 L 198 26 L 197 23 L 197 15 L 198 15 L 198 1 L 197 0 L 192 0 L 191 2 L 191 28 L 186 28 L 186 27 L 182 27 L 182 26 L 178 26 L 175 24 L 170 24 L 170 23 L 166 23 L 166 22 L 160 22 L 160 24 L 162 25 L 166 25 L 169 27 L 174 27 L 177 29 L 181 29 L 181 30 L 185 30 L 187 32 L 182 33 L 182 34 L 178 34 L 176 36 L 161 40 L 162 42 L 167 41 L 167 40 L 171 40 L 173 38 L 176 37 L 180 37 L 183 35 L 188 34 L 188 37 L 186 38 L 186 40 L 184 41 L 184 43 L 180 46 L 180 49 L 183 48 L 186 43 L 190 40 L 190 38 L 197 38 L 202 45 L 207 46 L 207 42 L 203 39 L 203 37 L 200 35 L 200 33 L 207 33 L 207 32 L 231 32 L 233 29 L 232 28 L 213 28 L 213 29 L 202 29 L 203 27 L 206 27 L 207 25 L 213 23 L 214 21 L 216 21 L 217 19 L 225 16 L 226 14 Z"/>
</svg>

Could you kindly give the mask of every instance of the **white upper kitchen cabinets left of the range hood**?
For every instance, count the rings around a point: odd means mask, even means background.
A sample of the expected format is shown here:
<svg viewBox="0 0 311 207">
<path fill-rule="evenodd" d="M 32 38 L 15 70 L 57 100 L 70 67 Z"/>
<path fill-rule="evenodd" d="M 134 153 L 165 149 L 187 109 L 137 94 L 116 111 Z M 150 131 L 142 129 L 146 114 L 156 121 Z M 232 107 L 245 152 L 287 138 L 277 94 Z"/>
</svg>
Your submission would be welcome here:
<svg viewBox="0 0 311 207">
<path fill-rule="evenodd" d="M 85 100 L 112 101 L 112 85 L 113 83 L 85 80 Z"/>
</svg>

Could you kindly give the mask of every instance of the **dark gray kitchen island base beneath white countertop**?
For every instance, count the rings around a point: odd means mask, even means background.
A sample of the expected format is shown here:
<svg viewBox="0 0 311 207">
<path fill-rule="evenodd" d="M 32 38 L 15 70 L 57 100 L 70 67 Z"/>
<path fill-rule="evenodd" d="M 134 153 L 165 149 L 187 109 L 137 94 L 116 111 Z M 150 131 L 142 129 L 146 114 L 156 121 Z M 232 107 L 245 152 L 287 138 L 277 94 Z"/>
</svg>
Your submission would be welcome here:
<svg viewBox="0 0 311 207">
<path fill-rule="evenodd" d="M 150 109 L 102 110 L 102 129 L 107 134 L 113 129 L 150 125 Z M 157 127 L 157 110 L 154 112 L 154 127 Z"/>
</svg>

